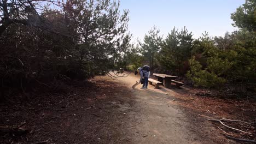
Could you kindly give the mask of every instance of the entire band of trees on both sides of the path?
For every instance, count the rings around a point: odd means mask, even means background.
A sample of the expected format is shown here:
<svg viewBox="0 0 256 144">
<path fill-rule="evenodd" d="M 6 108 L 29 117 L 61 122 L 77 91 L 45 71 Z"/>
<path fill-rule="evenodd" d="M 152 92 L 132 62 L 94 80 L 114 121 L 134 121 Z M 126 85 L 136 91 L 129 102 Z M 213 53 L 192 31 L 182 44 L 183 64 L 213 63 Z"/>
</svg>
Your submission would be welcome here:
<svg viewBox="0 0 256 144">
<path fill-rule="evenodd" d="M 153 27 L 131 44 L 129 11 L 110 0 L 0 0 L 1 100 L 59 83 L 83 81 L 119 67 L 183 77 L 196 87 L 223 85 L 254 91 L 256 83 L 256 2 L 231 14 L 239 30 L 199 39 L 187 28 L 162 37 Z M 207 30 L 207 29 L 206 29 Z M 241 89 L 240 89 L 241 90 Z"/>
</svg>

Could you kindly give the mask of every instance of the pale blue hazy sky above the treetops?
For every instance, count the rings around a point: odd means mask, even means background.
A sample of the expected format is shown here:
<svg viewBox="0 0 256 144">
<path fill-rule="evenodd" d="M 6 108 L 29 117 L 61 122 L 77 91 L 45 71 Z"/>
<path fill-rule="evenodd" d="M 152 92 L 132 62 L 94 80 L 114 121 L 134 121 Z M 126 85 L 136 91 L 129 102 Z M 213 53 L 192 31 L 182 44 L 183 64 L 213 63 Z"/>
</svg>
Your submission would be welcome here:
<svg viewBox="0 0 256 144">
<path fill-rule="evenodd" d="M 207 31 L 210 36 L 232 32 L 230 14 L 245 0 L 120 0 L 130 10 L 129 31 L 133 40 L 143 39 L 154 25 L 164 37 L 171 29 L 186 26 L 194 38 Z"/>
</svg>

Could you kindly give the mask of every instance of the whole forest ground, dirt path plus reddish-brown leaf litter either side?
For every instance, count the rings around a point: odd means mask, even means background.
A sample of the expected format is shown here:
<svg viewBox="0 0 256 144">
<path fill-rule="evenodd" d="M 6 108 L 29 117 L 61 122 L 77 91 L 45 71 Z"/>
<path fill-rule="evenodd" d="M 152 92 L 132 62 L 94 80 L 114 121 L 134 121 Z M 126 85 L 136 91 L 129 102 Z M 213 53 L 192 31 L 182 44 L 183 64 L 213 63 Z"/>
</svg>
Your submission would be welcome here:
<svg viewBox="0 0 256 144">
<path fill-rule="evenodd" d="M 255 101 L 198 95 L 199 89 L 139 89 L 138 77 L 97 76 L 65 92 L 20 97 L 0 104 L 0 143 L 239 143 L 223 131 L 255 139 L 255 124 L 229 123 L 237 133 L 207 119 L 256 121 Z M 218 129 L 219 127 L 220 129 Z M 15 129 L 18 128 L 18 129 Z M 27 130 L 25 133 L 17 133 Z"/>
</svg>

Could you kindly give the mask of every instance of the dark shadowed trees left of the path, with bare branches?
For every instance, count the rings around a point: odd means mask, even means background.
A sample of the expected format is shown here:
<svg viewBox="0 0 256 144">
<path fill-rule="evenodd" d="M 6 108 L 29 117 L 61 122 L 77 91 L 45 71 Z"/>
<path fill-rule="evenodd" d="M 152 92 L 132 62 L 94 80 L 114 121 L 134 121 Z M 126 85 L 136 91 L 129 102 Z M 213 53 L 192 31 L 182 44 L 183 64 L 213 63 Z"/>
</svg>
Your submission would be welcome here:
<svg viewBox="0 0 256 144">
<path fill-rule="evenodd" d="M 119 4 L 1 0 L 1 99 L 113 69 L 131 37 Z"/>
</svg>

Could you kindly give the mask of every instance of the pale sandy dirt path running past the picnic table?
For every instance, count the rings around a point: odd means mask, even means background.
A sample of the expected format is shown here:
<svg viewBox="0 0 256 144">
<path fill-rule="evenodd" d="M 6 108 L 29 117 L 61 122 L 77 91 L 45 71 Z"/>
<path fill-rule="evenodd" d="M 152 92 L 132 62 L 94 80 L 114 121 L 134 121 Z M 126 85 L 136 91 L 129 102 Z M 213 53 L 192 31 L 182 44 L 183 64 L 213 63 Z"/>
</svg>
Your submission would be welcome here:
<svg viewBox="0 0 256 144">
<path fill-rule="evenodd" d="M 202 131 L 196 128 L 198 125 L 194 125 L 193 120 L 174 105 L 177 103 L 173 97 L 174 91 L 164 87 L 155 89 L 150 85 L 148 89 L 140 89 L 142 85 L 132 89 L 136 80 L 138 81 L 138 77 L 132 75 L 116 80 L 119 85 L 131 89 L 135 100 L 132 107 L 120 107 L 130 119 L 125 126 L 129 130 L 128 133 L 132 134 L 127 137 L 127 143 L 216 143 L 218 137 L 213 138 L 213 141 L 202 135 L 210 133 L 211 136 L 212 130 Z M 197 133 L 197 130 L 201 134 Z"/>
</svg>

